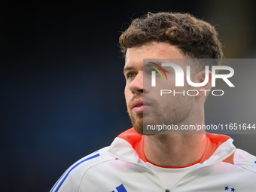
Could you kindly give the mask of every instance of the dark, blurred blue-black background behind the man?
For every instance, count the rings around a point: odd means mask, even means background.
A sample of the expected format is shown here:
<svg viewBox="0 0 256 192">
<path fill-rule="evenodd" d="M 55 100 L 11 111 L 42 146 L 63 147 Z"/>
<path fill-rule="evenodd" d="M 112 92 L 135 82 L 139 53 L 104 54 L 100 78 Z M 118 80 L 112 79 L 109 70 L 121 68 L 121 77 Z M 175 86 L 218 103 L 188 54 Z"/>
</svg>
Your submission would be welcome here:
<svg viewBox="0 0 256 192">
<path fill-rule="evenodd" d="M 2 191 L 49 191 L 72 163 L 131 127 L 117 44 L 131 18 L 148 11 L 194 14 L 216 26 L 226 58 L 256 57 L 252 1 L 2 5 Z M 230 102 L 223 115 L 237 113 Z M 256 155 L 255 136 L 232 137 Z"/>
</svg>

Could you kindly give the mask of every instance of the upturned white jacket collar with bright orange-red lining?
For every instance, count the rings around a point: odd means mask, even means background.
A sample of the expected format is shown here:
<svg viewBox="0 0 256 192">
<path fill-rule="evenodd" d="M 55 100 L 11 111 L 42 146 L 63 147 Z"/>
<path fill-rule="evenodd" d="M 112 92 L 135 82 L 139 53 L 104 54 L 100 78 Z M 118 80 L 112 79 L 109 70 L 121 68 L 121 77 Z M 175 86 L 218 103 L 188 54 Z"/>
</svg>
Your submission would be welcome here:
<svg viewBox="0 0 256 192">
<path fill-rule="evenodd" d="M 206 136 L 208 139 L 206 151 L 200 160 L 200 164 L 203 166 L 209 166 L 224 161 L 236 150 L 233 145 L 233 139 L 229 136 L 212 133 L 206 133 Z M 114 139 L 114 142 L 112 142 L 108 149 L 108 153 L 117 159 L 130 163 L 143 163 L 147 161 L 143 146 L 144 136 L 136 133 L 134 128 L 131 128 Z"/>
</svg>

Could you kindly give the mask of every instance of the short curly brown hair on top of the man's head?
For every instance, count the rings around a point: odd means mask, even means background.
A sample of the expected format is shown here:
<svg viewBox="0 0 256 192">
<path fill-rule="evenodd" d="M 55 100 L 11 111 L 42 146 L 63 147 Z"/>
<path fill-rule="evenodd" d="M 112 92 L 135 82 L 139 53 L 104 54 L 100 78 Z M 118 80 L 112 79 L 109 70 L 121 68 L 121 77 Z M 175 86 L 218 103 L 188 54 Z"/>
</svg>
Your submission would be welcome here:
<svg viewBox="0 0 256 192">
<path fill-rule="evenodd" d="M 148 12 L 133 20 L 120 35 L 121 51 L 149 41 L 169 41 L 178 47 L 187 58 L 221 59 L 221 42 L 215 27 L 190 14 Z"/>
</svg>

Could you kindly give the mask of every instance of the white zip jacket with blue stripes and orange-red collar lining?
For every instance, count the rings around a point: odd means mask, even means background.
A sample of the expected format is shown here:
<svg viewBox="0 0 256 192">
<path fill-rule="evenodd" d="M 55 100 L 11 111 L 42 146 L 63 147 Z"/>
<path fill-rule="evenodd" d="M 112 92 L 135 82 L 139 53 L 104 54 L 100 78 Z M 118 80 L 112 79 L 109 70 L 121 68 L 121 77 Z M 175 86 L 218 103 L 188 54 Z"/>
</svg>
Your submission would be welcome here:
<svg viewBox="0 0 256 192">
<path fill-rule="evenodd" d="M 229 136 L 206 136 L 209 140 L 200 163 L 171 188 L 145 163 L 144 136 L 132 128 L 111 146 L 70 166 L 50 192 L 256 191 L 256 157 L 236 149 Z"/>
</svg>

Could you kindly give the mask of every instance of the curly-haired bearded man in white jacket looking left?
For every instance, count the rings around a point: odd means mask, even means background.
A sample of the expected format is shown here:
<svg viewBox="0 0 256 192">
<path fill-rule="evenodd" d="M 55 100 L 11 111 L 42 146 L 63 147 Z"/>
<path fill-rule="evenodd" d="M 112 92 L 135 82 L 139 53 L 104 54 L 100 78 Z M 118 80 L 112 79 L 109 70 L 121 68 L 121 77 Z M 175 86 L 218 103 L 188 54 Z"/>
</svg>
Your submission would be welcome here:
<svg viewBox="0 0 256 192">
<path fill-rule="evenodd" d="M 134 128 L 117 136 L 109 147 L 78 160 L 51 191 L 256 191 L 256 157 L 236 149 L 229 136 L 144 134 L 145 124 L 181 128 L 204 123 L 211 72 L 203 64 L 191 64 L 194 83 L 204 82 L 209 75 L 206 84 L 194 87 L 203 91 L 159 99 L 157 91 L 144 84 L 146 68 L 157 63 L 144 60 L 221 59 L 215 28 L 190 14 L 148 13 L 133 20 L 120 36 L 120 46 L 125 54 L 126 105 Z M 187 64 L 178 66 L 185 69 Z M 166 81 L 158 90 L 175 84 L 174 71 L 164 71 Z"/>
</svg>

